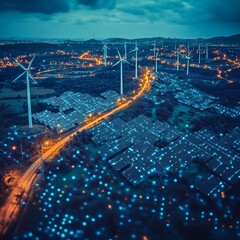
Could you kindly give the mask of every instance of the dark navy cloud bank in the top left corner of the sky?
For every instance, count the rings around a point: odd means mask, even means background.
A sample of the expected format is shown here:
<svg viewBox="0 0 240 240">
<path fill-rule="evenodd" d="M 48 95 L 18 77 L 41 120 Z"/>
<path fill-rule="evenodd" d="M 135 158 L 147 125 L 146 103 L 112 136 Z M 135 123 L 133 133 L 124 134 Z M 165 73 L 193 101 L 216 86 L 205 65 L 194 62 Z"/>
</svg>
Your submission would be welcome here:
<svg viewBox="0 0 240 240">
<path fill-rule="evenodd" d="M 0 11 L 19 11 L 25 13 L 53 14 L 68 12 L 70 5 L 66 0 L 1 0 Z"/>
</svg>

